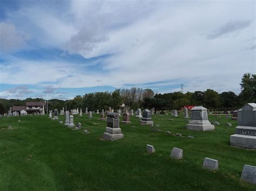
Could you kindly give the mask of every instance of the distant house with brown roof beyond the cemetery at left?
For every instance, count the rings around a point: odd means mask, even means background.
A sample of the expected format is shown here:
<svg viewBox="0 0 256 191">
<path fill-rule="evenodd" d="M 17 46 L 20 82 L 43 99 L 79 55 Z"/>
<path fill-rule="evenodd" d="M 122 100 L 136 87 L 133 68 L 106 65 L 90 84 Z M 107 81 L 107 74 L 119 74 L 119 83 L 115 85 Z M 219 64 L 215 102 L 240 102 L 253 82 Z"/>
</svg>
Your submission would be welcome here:
<svg viewBox="0 0 256 191">
<path fill-rule="evenodd" d="M 28 114 L 44 114 L 45 102 L 26 102 L 26 106 L 13 106 L 12 111 L 17 111 L 21 114 L 24 110 Z"/>
</svg>

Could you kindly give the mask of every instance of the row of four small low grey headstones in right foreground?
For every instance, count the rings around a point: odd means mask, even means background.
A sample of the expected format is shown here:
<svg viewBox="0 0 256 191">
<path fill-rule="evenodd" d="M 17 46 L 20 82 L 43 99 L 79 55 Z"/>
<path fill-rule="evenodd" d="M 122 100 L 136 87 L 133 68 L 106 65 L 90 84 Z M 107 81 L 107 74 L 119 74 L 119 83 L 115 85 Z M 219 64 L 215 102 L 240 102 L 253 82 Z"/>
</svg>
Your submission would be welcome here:
<svg viewBox="0 0 256 191">
<path fill-rule="evenodd" d="M 156 152 L 156 150 L 154 150 L 154 146 L 147 145 L 147 153 L 151 154 L 154 152 Z M 182 159 L 183 150 L 173 147 L 170 157 L 173 159 Z M 216 171 L 219 169 L 219 161 L 215 159 L 204 158 L 203 168 Z M 256 183 L 256 166 L 244 165 L 244 168 L 242 169 L 241 180 Z"/>
</svg>

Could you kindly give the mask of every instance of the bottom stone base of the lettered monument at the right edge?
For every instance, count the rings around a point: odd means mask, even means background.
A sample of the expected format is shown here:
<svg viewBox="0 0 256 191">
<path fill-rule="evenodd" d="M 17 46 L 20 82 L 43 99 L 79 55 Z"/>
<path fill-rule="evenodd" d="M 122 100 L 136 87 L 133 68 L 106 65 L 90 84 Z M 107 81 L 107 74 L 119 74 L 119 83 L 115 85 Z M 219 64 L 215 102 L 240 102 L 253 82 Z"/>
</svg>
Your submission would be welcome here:
<svg viewBox="0 0 256 191">
<path fill-rule="evenodd" d="M 234 134 L 230 136 L 230 145 L 256 149 L 256 136 Z"/>
</svg>

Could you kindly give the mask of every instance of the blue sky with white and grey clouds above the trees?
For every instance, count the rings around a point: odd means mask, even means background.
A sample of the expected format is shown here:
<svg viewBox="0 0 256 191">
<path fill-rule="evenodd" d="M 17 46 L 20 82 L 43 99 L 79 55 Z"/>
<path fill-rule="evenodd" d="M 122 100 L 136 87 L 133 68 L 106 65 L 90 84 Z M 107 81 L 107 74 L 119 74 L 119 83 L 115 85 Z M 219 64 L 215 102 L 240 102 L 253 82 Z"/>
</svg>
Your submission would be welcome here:
<svg viewBox="0 0 256 191">
<path fill-rule="evenodd" d="M 0 97 L 238 94 L 255 41 L 255 1 L 0 0 Z"/>
</svg>

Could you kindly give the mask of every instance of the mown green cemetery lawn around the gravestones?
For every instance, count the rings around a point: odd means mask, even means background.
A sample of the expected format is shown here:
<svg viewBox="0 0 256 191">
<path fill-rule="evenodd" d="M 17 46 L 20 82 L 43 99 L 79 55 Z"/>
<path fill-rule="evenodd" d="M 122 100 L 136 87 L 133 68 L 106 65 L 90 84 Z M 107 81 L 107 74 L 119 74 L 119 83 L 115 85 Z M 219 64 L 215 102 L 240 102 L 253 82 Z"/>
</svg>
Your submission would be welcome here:
<svg viewBox="0 0 256 191">
<path fill-rule="evenodd" d="M 102 140 L 106 122 L 96 114 L 92 119 L 74 115 L 75 124 L 82 123 L 77 131 L 46 115 L 2 117 L 0 190 L 255 190 L 240 175 L 244 165 L 256 166 L 256 150 L 230 146 L 237 121 L 208 117 L 220 125 L 195 132 L 185 129 L 187 119 L 181 115 L 174 121 L 167 121 L 170 115 L 154 115 L 162 131 L 152 132 L 131 116 L 131 124 L 120 123 L 124 138 L 114 142 Z M 147 144 L 156 153 L 147 154 Z M 170 158 L 173 147 L 183 149 L 183 159 Z M 219 160 L 219 170 L 203 169 L 205 157 Z"/>
</svg>

